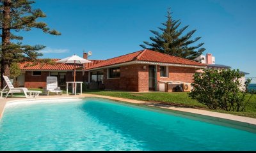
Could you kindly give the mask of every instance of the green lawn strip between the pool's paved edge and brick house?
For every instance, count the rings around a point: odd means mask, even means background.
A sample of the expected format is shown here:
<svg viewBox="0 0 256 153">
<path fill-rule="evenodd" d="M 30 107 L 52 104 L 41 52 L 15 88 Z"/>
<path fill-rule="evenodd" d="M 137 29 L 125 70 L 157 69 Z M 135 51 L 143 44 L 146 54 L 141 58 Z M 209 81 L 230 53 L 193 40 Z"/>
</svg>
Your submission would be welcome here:
<svg viewBox="0 0 256 153">
<path fill-rule="evenodd" d="M 199 103 L 195 99 L 191 99 L 188 96 L 188 92 L 124 92 L 124 91 L 99 91 L 99 90 L 87 90 L 87 94 L 98 94 L 103 96 L 112 96 L 117 98 L 127 98 L 127 99 L 136 99 L 142 101 L 160 101 L 165 103 L 170 103 L 172 105 L 180 105 L 185 107 L 192 108 L 203 108 L 206 110 L 210 110 L 207 106 Z M 246 95 L 246 101 L 249 98 L 249 94 Z M 246 105 L 246 109 L 244 112 L 228 112 L 225 110 L 210 110 L 214 112 L 221 113 L 230 113 L 233 115 L 240 115 L 245 117 L 253 117 L 256 118 L 256 95 L 253 95 L 248 104 Z"/>
</svg>

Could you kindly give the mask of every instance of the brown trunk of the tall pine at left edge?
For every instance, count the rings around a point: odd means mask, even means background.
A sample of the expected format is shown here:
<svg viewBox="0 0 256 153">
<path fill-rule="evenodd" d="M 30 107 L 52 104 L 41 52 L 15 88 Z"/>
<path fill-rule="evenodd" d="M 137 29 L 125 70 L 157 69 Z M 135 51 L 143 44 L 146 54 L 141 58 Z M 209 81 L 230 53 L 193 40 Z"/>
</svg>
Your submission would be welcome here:
<svg viewBox="0 0 256 153">
<path fill-rule="evenodd" d="M 11 0 L 4 0 L 3 25 L 2 25 L 2 55 L 1 55 L 1 88 L 4 87 L 3 75 L 10 77 L 10 62 L 6 58 L 10 49 L 10 25 L 11 25 Z"/>
</svg>

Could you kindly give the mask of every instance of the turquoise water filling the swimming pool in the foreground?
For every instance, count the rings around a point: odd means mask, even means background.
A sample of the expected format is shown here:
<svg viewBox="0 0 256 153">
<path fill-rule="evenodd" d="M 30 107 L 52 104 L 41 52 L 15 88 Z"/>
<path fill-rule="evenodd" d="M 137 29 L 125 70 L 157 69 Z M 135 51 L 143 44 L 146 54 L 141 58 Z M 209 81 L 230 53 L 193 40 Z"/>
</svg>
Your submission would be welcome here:
<svg viewBox="0 0 256 153">
<path fill-rule="evenodd" d="M 0 150 L 256 150 L 256 134 L 105 99 L 9 105 Z"/>
</svg>

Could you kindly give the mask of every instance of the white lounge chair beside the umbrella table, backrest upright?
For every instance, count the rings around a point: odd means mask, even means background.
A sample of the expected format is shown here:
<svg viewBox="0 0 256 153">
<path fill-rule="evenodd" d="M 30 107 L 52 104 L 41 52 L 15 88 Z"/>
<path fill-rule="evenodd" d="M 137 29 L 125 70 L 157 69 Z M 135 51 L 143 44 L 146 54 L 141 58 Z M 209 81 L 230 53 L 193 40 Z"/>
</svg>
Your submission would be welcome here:
<svg viewBox="0 0 256 153">
<path fill-rule="evenodd" d="M 55 92 L 56 94 L 62 94 L 63 91 L 58 87 L 57 77 L 47 77 L 46 78 L 46 91 L 47 96 L 49 96 L 49 92 Z"/>
</svg>

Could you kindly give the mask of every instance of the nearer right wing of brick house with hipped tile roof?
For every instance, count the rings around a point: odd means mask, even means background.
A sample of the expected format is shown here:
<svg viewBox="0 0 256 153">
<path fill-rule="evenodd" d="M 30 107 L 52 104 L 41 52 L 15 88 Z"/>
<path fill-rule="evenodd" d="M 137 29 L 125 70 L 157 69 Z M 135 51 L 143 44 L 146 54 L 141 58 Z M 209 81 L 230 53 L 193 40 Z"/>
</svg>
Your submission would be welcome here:
<svg viewBox="0 0 256 153">
<path fill-rule="evenodd" d="M 159 91 L 159 82 L 193 82 L 197 69 L 206 65 L 161 54 L 140 50 L 99 62 L 88 71 L 88 82 L 103 82 L 105 89 L 122 91 Z"/>
</svg>

